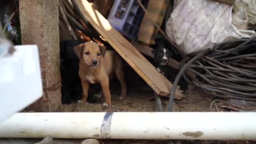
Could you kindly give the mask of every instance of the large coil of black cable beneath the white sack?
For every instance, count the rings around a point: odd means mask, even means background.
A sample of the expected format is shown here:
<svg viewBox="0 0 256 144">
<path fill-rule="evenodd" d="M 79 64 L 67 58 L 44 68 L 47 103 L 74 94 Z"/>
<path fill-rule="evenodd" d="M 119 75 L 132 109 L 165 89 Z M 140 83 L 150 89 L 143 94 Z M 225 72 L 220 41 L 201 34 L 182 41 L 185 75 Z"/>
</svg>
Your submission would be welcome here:
<svg viewBox="0 0 256 144">
<path fill-rule="evenodd" d="M 189 66 L 195 73 L 191 80 L 184 77 L 214 96 L 256 101 L 255 47 L 256 37 L 219 43 Z"/>
</svg>

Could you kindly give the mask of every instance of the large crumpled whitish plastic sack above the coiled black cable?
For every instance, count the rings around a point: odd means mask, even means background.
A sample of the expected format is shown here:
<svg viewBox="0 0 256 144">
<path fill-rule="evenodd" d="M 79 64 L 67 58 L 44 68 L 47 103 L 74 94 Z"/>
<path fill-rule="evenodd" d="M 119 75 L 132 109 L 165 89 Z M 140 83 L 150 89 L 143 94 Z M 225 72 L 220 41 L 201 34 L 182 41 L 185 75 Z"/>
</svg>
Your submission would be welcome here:
<svg viewBox="0 0 256 144">
<path fill-rule="evenodd" d="M 165 32 L 182 55 L 199 53 L 224 40 L 256 36 L 232 24 L 231 5 L 214 0 L 175 0 L 174 5 Z"/>
</svg>

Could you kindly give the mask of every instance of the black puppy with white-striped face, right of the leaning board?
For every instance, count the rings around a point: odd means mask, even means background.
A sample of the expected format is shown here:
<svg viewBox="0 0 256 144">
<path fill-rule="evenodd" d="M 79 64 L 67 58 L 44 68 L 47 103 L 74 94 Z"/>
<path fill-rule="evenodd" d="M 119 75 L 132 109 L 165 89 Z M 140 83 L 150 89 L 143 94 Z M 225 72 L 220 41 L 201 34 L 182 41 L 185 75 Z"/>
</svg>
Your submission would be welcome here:
<svg viewBox="0 0 256 144">
<path fill-rule="evenodd" d="M 169 58 L 172 57 L 171 51 L 169 51 L 167 48 L 160 47 L 152 50 L 152 54 L 155 56 L 154 66 L 156 67 L 157 71 L 163 74 L 168 80 L 173 82 L 176 78 L 176 75 L 178 75 L 179 70 L 168 67 Z M 181 77 L 178 84 L 180 85 L 181 91 L 186 90 L 187 83 L 183 77 Z"/>
</svg>

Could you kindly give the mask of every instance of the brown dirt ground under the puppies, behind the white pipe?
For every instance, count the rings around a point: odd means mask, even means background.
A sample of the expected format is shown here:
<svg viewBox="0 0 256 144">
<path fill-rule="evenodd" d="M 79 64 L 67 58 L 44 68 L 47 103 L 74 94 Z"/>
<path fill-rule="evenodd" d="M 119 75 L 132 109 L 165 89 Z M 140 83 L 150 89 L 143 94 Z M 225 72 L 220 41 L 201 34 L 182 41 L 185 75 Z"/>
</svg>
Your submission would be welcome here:
<svg viewBox="0 0 256 144">
<path fill-rule="evenodd" d="M 120 88 L 119 88 L 120 89 Z M 100 102 L 90 104 L 88 102 L 78 103 L 75 102 L 70 105 L 62 105 L 58 110 L 59 112 L 157 112 L 154 93 L 148 85 L 136 85 L 133 88 L 128 88 L 127 98 L 119 100 L 120 91 L 117 88 L 111 88 L 112 106 L 109 108 L 102 107 L 101 98 Z M 204 99 L 206 94 L 198 88 L 193 88 L 189 85 L 187 91 L 184 92 L 186 96 L 182 101 L 197 101 Z M 187 104 L 174 104 L 175 112 L 205 112 L 208 111 L 211 101 L 208 100 L 187 103 Z M 168 109 L 168 98 L 161 97 L 163 109 Z"/>
</svg>

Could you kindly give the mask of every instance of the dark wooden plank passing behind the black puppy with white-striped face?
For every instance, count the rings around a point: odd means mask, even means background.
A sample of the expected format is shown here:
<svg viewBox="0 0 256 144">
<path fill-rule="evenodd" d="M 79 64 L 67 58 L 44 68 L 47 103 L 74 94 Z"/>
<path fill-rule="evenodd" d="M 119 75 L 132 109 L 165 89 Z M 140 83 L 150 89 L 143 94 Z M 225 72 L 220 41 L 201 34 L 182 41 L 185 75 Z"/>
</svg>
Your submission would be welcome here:
<svg viewBox="0 0 256 144">
<path fill-rule="evenodd" d="M 139 52 L 143 53 L 144 55 L 154 58 L 154 55 L 153 55 L 152 52 L 151 52 L 151 51 L 153 50 L 153 48 L 150 48 L 149 46 L 144 45 L 144 44 L 141 44 L 141 43 L 138 43 L 138 42 L 134 42 L 134 43 L 133 43 L 133 46 L 134 46 Z M 168 61 L 168 66 L 173 67 L 173 68 L 175 68 L 175 69 L 180 69 L 180 68 L 179 68 L 179 62 L 176 61 L 176 60 L 174 60 L 174 59 L 171 59 L 171 58 L 170 58 L 169 61 Z M 195 74 L 194 74 L 192 71 L 190 71 L 189 69 L 187 69 L 185 72 L 186 72 L 186 74 L 187 74 L 189 77 L 194 77 L 194 76 L 195 76 Z"/>
</svg>

